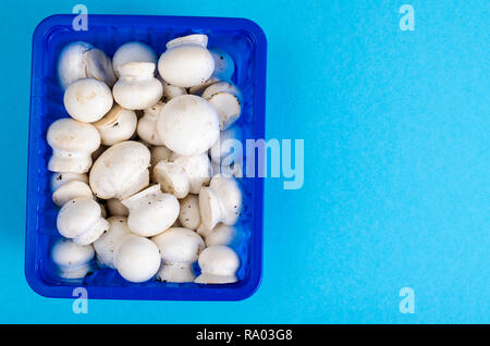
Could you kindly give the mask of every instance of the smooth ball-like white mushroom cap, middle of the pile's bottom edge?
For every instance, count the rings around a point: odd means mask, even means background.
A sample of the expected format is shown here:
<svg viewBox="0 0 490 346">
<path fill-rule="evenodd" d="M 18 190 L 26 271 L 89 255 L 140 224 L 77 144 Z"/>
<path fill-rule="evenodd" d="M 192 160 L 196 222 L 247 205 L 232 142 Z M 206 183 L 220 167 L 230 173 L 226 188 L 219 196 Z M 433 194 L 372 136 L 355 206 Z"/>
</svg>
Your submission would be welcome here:
<svg viewBox="0 0 490 346">
<path fill-rule="evenodd" d="M 119 245 L 114 265 L 122 277 L 139 283 L 150 280 L 160 268 L 160 254 L 150 239 L 128 235 Z"/>
</svg>

